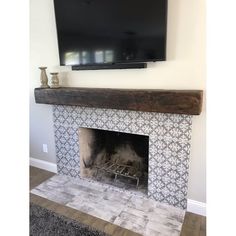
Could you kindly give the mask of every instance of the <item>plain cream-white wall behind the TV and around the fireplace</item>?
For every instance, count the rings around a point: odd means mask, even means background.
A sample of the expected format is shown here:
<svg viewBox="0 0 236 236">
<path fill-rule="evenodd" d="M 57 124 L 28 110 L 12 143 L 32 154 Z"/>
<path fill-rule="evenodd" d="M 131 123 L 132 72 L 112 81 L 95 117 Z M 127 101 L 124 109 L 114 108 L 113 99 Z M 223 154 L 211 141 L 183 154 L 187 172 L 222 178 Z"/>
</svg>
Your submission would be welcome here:
<svg viewBox="0 0 236 236">
<path fill-rule="evenodd" d="M 110 88 L 205 90 L 205 1 L 169 0 L 167 61 L 148 63 L 147 69 L 70 71 L 58 67 L 53 0 L 30 1 L 30 155 L 55 163 L 52 108 L 35 104 L 33 89 L 39 87 L 39 66 L 61 71 L 66 86 Z M 203 112 L 193 117 L 188 198 L 205 202 L 206 139 L 205 98 Z M 48 153 L 42 144 L 48 144 Z"/>
</svg>

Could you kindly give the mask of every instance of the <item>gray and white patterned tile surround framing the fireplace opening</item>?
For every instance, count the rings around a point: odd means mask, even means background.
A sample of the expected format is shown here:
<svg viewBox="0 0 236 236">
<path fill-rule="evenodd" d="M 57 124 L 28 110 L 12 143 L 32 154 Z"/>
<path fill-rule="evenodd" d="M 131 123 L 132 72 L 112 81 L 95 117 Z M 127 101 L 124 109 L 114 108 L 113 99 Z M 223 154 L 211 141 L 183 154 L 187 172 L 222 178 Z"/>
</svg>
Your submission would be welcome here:
<svg viewBox="0 0 236 236">
<path fill-rule="evenodd" d="M 80 127 L 149 136 L 148 197 L 186 209 L 192 116 L 53 106 L 58 173 L 80 178 Z"/>
</svg>

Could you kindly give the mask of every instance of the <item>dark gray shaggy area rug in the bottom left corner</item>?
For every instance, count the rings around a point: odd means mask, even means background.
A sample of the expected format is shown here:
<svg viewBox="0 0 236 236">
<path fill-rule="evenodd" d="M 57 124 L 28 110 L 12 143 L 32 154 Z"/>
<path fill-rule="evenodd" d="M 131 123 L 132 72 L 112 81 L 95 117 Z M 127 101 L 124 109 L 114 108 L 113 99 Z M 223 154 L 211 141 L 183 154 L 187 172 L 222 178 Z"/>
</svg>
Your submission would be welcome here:
<svg viewBox="0 0 236 236">
<path fill-rule="evenodd" d="M 106 236 L 103 232 L 32 203 L 30 204 L 30 235 Z"/>
</svg>

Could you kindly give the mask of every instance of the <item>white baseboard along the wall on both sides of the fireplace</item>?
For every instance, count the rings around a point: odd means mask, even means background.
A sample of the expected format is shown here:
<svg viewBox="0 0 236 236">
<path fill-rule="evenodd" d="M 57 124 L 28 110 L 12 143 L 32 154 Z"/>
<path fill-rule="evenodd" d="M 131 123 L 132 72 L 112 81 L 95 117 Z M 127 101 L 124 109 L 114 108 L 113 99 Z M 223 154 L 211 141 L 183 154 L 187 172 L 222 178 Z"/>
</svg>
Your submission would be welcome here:
<svg viewBox="0 0 236 236">
<path fill-rule="evenodd" d="M 42 161 L 31 157 L 30 165 L 53 173 L 57 173 L 57 165 L 48 161 Z M 187 211 L 206 216 L 206 203 L 188 199 Z"/>
</svg>

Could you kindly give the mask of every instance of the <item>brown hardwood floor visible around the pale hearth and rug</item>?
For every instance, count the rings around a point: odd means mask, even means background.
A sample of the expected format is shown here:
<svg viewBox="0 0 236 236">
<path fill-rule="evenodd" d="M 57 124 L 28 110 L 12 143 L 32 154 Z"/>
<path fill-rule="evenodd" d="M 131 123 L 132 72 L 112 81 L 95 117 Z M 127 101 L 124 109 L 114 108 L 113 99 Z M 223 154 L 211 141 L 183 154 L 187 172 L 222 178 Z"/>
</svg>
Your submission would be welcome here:
<svg viewBox="0 0 236 236">
<path fill-rule="evenodd" d="M 30 167 L 30 189 L 36 187 L 48 178 L 52 177 L 54 173 Z M 38 204 L 58 214 L 64 215 L 68 218 L 78 220 L 81 223 L 90 225 L 98 230 L 112 236 L 137 236 L 139 234 L 126 230 L 117 225 L 111 224 L 104 220 L 90 216 L 75 209 L 60 205 L 45 198 L 30 194 L 30 201 Z M 204 236 L 206 235 L 206 217 L 187 212 L 185 215 L 181 236 Z"/>
</svg>

